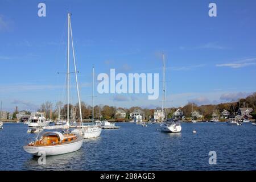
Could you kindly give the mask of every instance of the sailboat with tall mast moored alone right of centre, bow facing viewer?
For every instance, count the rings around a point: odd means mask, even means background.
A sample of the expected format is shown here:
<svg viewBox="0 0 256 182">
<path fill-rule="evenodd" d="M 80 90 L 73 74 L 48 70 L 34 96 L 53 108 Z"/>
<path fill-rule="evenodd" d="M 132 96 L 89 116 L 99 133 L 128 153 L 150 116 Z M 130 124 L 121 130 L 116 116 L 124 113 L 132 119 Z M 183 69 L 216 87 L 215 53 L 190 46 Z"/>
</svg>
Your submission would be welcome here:
<svg viewBox="0 0 256 182">
<path fill-rule="evenodd" d="M 167 119 L 166 114 L 166 66 L 164 63 L 164 54 L 163 54 L 163 97 L 162 97 L 162 112 L 163 112 L 163 104 L 165 105 L 165 117 L 164 119 L 166 121 L 163 122 L 162 118 L 162 124 L 160 125 L 160 129 L 162 132 L 168 132 L 168 133 L 179 133 L 181 132 L 181 125 L 180 122 L 178 122 L 176 119 Z"/>
</svg>

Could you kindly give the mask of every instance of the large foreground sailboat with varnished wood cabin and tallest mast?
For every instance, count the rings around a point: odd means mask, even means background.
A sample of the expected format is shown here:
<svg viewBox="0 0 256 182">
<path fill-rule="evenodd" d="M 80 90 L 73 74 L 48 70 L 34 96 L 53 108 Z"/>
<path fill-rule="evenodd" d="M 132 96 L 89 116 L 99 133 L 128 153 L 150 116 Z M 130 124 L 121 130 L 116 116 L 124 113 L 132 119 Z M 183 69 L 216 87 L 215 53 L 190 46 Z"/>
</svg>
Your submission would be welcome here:
<svg viewBox="0 0 256 182">
<path fill-rule="evenodd" d="M 76 62 L 75 62 L 75 53 L 73 48 L 73 38 L 72 38 L 72 28 L 71 28 L 71 14 L 68 13 L 68 53 L 67 53 L 67 123 L 63 126 L 45 126 L 43 129 L 46 130 L 55 130 L 47 131 L 44 133 L 39 132 L 36 139 L 26 146 L 23 146 L 24 151 L 32 155 L 41 156 L 45 154 L 49 155 L 60 155 L 67 154 L 69 152 L 77 151 L 81 148 L 83 143 L 83 138 L 79 134 L 73 134 L 69 132 L 69 43 L 70 35 L 72 39 L 72 49 L 73 49 L 73 63 L 75 66 L 76 74 Z M 79 96 L 77 74 L 76 74 L 76 86 L 77 86 L 77 95 Z M 79 107 L 81 114 L 81 105 L 79 97 Z M 81 117 L 81 115 L 80 115 Z M 63 129 L 62 132 L 56 131 L 56 129 Z"/>
</svg>

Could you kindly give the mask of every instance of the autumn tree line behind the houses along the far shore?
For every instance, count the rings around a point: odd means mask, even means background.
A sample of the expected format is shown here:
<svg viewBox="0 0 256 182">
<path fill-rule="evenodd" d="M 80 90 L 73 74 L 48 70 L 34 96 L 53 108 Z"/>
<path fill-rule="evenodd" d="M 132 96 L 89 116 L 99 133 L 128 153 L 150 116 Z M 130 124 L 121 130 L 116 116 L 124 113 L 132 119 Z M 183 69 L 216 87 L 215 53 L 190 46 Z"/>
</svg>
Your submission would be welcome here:
<svg viewBox="0 0 256 182">
<path fill-rule="evenodd" d="M 212 118 L 212 114 L 215 113 L 217 115 L 220 115 L 223 110 L 228 110 L 231 114 L 236 115 L 238 109 L 240 107 L 251 107 L 254 109 L 253 115 L 255 119 L 256 111 L 256 92 L 251 94 L 250 96 L 246 98 L 240 98 L 236 102 L 226 102 L 226 103 L 220 103 L 220 104 L 209 104 L 209 105 L 196 105 L 195 103 L 189 102 L 187 105 L 183 107 L 170 107 L 167 108 L 167 116 L 168 118 L 171 118 L 174 112 L 177 109 L 181 109 L 183 111 L 183 114 L 186 118 L 191 117 L 192 113 L 192 104 L 193 104 L 193 110 L 198 111 L 201 115 L 203 115 L 204 119 L 210 119 Z M 59 105 L 60 105 L 60 117 L 61 118 L 67 118 L 67 104 L 63 104 L 63 102 L 57 102 L 55 106 L 53 106 L 53 103 L 50 101 L 47 101 L 40 105 L 40 108 L 38 111 L 46 113 L 47 119 L 57 119 L 59 116 Z M 115 107 L 115 106 L 108 106 L 108 105 L 96 105 L 94 106 L 94 118 L 98 119 L 117 119 L 115 112 L 117 109 L 122 109 L 126 112 L 125 119 L 129 119 L 129 115 L 131 112 L 133 112 L 135 109 L 140 109 L 144 113 L 145 119 L 154 118 L 154 109 L 143 109 L 142 107 L 134 106 L 128 108 L 122 108 L 122 107 Z M 81 113 L 83 119 L 91 119 L 92 118 L 92 106 L 86 104 L 85 102 L 81 102 Z M 77 119 L 79 118 L 79 104 L 69 104 L 69 117 L 74 117 Z"/>
</svg>

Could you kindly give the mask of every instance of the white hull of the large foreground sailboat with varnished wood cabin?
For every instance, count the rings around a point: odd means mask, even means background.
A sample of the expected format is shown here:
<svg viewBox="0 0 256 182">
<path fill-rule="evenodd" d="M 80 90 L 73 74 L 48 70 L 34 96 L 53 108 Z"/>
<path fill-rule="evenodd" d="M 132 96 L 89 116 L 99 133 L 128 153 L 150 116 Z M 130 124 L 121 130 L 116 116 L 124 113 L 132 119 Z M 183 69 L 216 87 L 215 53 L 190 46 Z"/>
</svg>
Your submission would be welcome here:
<svg viewBox="0 0 256 182">
<path fill-rule="evenodd" d="M 24 151 L 29 154 L 41 156 L 39 152 L 49 155 L 60 155 L 75 152 L 82 146 L 83 139 L 79 139 L 76 142 L 60 144 L 56 146 L 23 146 Z M 41 153 L 41 154 L 42 154 Z"/>
</svg>

